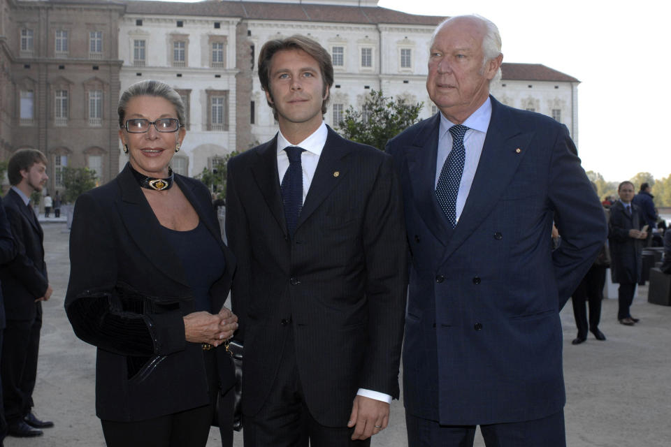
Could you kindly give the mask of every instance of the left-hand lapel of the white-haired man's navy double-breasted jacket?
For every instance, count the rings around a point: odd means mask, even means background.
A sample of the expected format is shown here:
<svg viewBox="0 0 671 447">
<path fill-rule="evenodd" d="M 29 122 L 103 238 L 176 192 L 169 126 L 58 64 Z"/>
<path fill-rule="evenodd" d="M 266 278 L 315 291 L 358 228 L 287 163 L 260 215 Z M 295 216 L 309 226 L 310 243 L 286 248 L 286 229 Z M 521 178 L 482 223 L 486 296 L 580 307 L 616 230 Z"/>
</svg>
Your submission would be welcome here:
<svg viewBox="0 0 671 447">
<path fill-rule="evenodd" d="M 414 142 L 403 148 L 410 175 L 412 198 L 417 212 L 431 233 L 447 245 L 452 228 L 448 228 L 445 214 L 435 198 L 435 168 L 438 157 L 438 129 L 440 115 L 426 120 L 426 125 L 417 133 Z"/>
</svg>

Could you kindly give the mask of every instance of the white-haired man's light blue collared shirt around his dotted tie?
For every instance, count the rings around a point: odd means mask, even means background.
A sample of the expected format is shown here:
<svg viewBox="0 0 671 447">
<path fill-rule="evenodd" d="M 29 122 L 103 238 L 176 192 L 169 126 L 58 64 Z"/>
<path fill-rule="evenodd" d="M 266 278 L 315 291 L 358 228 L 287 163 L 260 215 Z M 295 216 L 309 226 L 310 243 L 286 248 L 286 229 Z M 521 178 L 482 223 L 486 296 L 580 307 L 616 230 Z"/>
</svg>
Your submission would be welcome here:
<svg viewBox="0 0 671 447">
<path fill-rule="evenodd" d="M 466 147 L 466 160 L 463 163 L 463 174 L 461 174 L 461 183 L 459 184 L 459 193 L 456 196 L 456 221 L 459 222 L 463 205 L 466 204 L 466 198 L 470 192 L 470 185 L 473 183 L 475 177 L 475 170 L 477 170 L 477 163 L 480 161 L 480 154 L 482 154 L 482 146 L 484 145 L 484 138 L 487 135 L 487 128 L 489 127 L 489 120 L 491 119 L 491 100 L 487 100 L 475 112 L 461 123 L 468 127 L 466 135 L 463 137 L 463 146 Z M 445 118 L 445 115 L 440 114 L 440 128 L 438 130 L 438 157 L 435 163 L 435 186 L 438 186 L 438 178 L 440 177 L 440 170 L 442 165 L 450 152 L 452 152 L 452 133 L 449 133 L 449 128 L 454 126 L 454 123 Z"/>
</svg>

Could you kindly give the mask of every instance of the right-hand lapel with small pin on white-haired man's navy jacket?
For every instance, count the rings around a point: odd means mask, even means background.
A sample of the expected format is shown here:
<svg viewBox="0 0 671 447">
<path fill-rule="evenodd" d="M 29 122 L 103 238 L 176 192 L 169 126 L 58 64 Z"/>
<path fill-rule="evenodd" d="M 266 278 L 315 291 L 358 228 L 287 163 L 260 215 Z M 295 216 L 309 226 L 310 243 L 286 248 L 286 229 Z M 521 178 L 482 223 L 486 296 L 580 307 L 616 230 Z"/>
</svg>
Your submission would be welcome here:
<svg viewBox="0 0 671 447">
<path fill-rule="evenodd" d="M 531 149 L 533 132 L 522 132 L 510 111 L 491 98 L 491 119 L 477 164 L 475 177 L 461 212 L 459 223 L 445 249 L 447 259 L 500 200 L 520 161 Z"/>
</svg>

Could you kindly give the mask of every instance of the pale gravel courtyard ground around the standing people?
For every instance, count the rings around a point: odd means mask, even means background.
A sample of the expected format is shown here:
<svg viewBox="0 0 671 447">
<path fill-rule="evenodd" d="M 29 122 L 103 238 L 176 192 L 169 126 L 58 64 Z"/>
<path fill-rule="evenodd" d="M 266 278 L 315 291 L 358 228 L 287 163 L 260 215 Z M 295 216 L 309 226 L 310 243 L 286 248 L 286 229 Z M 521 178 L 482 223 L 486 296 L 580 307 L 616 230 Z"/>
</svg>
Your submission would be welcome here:
<svg viewBox="0 0 671 447">
<path fill-rule="evenodd" d="M 75 337 L 63 309 L 68 230 L 63 222 L 45 222 L 43 228 L 54 294 L 44 304 L 34 400 L 36 414 L 53 420 L 55 427 L 35 439 L 8 437 L 5 446 L 104 446 L 94 410 L 95 349 Z M 642 287 L 632 307 L 640 323 L 633 328 L 619 325 L 616 309 L 616 300 L 604 301 L 600 328 L 607 341 L 591 337 L 579 346 L 570 343 L 576 335 L 570 303 L 561 313 L 568 446 L 667 447 L 671 445 L 671 307 L 649 304 L 647 288 Z M 404 418 L 403 404 L 394 401 L 390 426 L 373 445 L 406 446 Z M 221 445 L 219 434 L 212 430 L 208 447 L 217 445 Z M 242 435 L 236 433 L 236 447 L 242 445 Z M 475 445 L 484 446 L 479 434 Z"/>
</svg>

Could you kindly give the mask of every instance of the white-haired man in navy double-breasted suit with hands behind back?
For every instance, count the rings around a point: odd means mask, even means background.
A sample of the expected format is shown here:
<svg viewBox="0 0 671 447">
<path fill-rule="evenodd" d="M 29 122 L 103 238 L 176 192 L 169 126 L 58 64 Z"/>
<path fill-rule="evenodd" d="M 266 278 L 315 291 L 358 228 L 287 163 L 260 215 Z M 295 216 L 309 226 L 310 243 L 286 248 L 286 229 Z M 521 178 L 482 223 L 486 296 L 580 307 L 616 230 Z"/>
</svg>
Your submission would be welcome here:
<svg viewBox="0 0 671 447">
<path fill-rule="evenodd" d="M 440 112 L 387 147 L 412 251 L 410 447 L 472 446 L 476 425 L 487 446 L 565 446 L 559 310 L 605 221 L 566 126 L 489 96 L 500 45 L 482 17 L 440 24 L 426 81 Z"/>
</svg>

